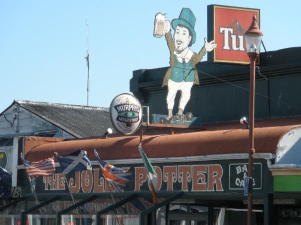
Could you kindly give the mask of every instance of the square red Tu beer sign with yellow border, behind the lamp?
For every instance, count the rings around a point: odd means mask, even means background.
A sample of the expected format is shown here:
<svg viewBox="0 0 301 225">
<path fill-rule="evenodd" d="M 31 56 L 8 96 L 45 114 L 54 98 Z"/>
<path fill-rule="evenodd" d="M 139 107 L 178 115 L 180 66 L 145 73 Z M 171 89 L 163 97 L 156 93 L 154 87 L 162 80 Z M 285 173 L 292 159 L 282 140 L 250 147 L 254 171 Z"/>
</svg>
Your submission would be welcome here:
<svg viewBox="0 0 301 225">
<path fill-rule="evenodd" d="M 260 10 L 223 5 L 208 5 L 208 39 L 214 39 L 217 47 L 208 55 L 213 62 L 248 64 L 245 31 L 248 30 L 253 15 L 260 26 Z"/>
</svg>

